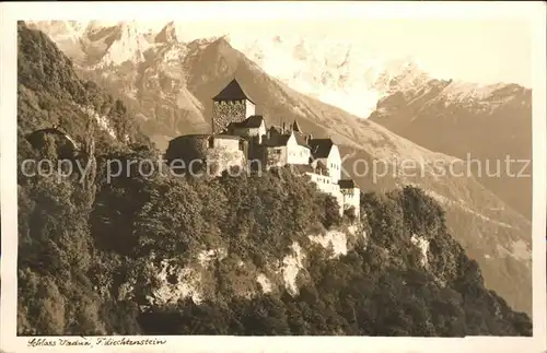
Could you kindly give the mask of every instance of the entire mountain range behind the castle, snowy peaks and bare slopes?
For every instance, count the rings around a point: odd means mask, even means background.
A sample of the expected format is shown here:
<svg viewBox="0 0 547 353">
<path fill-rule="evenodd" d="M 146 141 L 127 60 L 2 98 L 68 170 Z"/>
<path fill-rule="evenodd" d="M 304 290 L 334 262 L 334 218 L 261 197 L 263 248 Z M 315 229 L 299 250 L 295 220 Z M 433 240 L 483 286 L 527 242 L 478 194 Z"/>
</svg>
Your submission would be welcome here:
<svg viewBox="0 0 547 353">
<path fill-rule="evenodd" d="M 529 90 L 434 80 L 407 60 L 364 60 L 345 45 L 316 51 L 299 38 L 183 40 L 174 23 L 155 30 L 136 23 L 28 25 L 46 33 L 81 78 L 119 97 L 160 149 L 176 136 L 210 131 L 211 97 L 236 78 L 268 125 L 298 120 L 304 131 L 338 143 L 363 191 L 416 185 L 435 198 L 487 287 L 532 311 L 529 180 L 446 173 L 449 166 L 467 168 L 467 149 L 481 158 L 502 151 L 529 156 Z M 292 61 L 277 57 L 289 49 Z M 352 170 L 365 163 L 393 173 Z"/>
</svg>

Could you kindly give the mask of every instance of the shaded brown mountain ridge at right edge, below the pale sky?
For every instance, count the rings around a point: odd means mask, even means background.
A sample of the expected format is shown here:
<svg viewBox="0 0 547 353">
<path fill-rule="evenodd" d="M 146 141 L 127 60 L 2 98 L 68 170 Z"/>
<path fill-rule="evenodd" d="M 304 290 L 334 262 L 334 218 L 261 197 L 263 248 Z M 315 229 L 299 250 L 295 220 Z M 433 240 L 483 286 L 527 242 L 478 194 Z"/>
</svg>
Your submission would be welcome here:
<svg viewBox="0 0 547 353">
<path fill-rule="evenodd" d="M 477 161 L 478 180 L 531 220 L 532 91 L 492 85 L 465 99 L 458 93 L 476 86 L 451 85 L 430 82 L 421 92 L 389 95 L 370 119 L 428 149 Z M 446 99 L 451 93 L 455 99 Z"/>
</svg>

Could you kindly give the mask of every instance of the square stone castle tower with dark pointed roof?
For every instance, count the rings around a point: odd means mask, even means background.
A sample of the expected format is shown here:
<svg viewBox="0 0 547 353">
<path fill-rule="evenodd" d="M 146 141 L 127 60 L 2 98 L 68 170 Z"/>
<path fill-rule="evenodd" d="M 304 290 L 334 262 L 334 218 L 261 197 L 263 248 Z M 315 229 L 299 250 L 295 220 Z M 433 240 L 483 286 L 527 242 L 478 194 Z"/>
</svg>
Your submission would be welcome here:
<svg viewBox="0 0 547 353">
<path fill-rule="evenodd" d="M 255 115 L 255 104 L 234 79 L 213 98 L 212 132 L 220 133 L 230 122 Z"/>
</svg>

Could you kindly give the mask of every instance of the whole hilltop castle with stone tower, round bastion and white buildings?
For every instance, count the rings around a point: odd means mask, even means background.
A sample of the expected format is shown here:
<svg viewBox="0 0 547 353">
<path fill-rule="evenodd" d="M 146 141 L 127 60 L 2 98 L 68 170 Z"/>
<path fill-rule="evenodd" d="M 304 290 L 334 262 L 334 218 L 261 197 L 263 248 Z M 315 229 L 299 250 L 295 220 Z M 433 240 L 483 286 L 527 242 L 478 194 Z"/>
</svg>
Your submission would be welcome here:
<svg viewBox="0 0 547 353">
<path fill-rule="evenodd" d="M 340 213 L 352 208 L 359 216 L 360 189 L 353 180 L 341 179 L 340 152 L 331 139 L 306 136 L 298 121 L 267 128 L 236 80 L 212 101 L 212 132 L 173 139 L 165 154 L 167 161 L 212 161 L 217 174 L 248 166 L 249 161 L 258 162 L 263 169 L 290 165 L 310 176 L 321 191 L 334 196 Z"/>
</svg>

